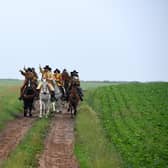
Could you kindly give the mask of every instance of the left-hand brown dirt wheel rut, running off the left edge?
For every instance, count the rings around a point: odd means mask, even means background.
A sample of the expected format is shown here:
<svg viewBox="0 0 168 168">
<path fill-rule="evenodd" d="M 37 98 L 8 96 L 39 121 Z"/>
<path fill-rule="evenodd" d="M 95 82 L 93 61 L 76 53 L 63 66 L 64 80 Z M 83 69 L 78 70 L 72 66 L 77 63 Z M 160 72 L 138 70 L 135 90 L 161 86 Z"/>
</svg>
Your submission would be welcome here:
<svg viewBox="0 0 168 168">
<path fill-rule="evenodd" d="M 5 129 L 0 133 L 0 165 L 8 157 L 10 152 L 19 144 L 36 117 L 18 117 L 8 122 Z"/>
</svg>

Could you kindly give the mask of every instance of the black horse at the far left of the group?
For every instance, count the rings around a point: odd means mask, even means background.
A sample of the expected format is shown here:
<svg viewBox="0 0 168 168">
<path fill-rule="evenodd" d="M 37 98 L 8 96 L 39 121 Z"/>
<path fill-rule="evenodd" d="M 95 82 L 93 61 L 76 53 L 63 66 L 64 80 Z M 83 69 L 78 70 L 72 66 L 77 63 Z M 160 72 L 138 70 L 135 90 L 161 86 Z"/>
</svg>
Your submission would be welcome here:
<svg viewBox="0 0 168 168">
<path fill-rule="evenodd" d="M 29 113 L 29 116 L 32 116 L 32 108 L 33 108 L 33 102 L 34 98 L 36 96 L 36 88 L 35 83 L 33 83 L 31 80 L 28 80 L 24 89 L 23 89 L 23 103 L 24 103 L 24 116 L 27 116 L 27 113 Z"/>
</svg>

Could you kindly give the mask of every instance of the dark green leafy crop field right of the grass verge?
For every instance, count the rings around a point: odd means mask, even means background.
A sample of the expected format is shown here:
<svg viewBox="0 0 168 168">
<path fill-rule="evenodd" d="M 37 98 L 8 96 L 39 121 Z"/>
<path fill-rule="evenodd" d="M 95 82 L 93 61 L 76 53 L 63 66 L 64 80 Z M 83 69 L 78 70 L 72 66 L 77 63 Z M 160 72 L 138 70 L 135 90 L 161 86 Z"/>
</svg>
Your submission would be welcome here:
<svg viewBox="0 0 168 168">
<path fill-rule="evenodd" d="M 122 167 L 168 167 L 168 83 L 98 87 L 87 91 L 85 101 L 97 113 L 106 139 L 121 155 Z"/>
</svg>

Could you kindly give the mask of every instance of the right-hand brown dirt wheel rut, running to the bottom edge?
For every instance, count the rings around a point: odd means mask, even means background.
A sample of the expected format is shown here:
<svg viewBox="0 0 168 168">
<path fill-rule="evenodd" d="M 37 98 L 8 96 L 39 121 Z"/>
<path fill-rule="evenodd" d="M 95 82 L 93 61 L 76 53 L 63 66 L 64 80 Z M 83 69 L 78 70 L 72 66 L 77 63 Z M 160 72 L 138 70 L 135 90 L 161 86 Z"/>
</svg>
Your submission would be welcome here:
<svg viewBox="0 0 168 168">
<path fill-rule="evenodd" d="M 74 119 L 64 110 L 56 114 L 51 125 L 39 168 L 79 168 L 73 154 Z"/>
</svg>

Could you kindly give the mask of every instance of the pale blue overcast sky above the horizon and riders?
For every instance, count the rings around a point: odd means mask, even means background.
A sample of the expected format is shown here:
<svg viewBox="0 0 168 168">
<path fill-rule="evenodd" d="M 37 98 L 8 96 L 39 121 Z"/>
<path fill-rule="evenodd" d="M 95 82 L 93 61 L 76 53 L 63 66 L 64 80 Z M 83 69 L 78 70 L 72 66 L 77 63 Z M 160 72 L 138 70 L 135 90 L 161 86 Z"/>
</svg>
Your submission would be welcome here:
<svg viewBox="0 0 168 168">
<path fill-rule="evenodd" d="M 0 78 L 50 65 L 81 80 L 168 81 L 167 9 L 167 0 L 0 1 Z"/>
</svg>

